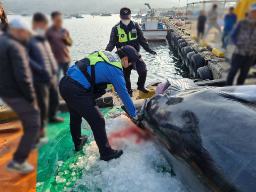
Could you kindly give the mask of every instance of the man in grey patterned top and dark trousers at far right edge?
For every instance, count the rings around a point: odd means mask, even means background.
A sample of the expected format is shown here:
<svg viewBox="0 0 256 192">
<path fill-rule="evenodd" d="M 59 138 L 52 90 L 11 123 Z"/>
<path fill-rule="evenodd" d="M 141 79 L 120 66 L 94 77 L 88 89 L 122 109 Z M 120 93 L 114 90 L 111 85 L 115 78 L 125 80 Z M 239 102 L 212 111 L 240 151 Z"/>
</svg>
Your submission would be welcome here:
<svg viewBox="0 0 256 192">
<path fill-rule="evenodd" d="M 226 85 L 233 85 L 239 69 L 237 85 L 243 85 L 256 55 L 256 2 L 250 5 L 248 17 L 237 23 L 231 40 L 236 45 L 236 49 L 232 55 Z"/>
</svg>

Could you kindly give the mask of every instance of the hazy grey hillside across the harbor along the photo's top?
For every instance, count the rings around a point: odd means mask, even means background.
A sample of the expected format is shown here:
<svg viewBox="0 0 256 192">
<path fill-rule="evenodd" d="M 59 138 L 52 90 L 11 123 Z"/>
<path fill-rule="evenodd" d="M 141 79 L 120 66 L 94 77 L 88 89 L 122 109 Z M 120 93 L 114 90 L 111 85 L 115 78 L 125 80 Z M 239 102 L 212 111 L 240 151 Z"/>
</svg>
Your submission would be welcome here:
<svg viewBox="0 0 256 192">
<path fill-rule="evenodd" d="M 149 3 L 152 8 L 167 8 L 178 6 L 179 2 L 178 0 L 173 2 L 170 0 L 144 0 L 139 2 L 138 0 L 125 2 L 120 0 L 5 0 L 3 3 L 6 11 L 12 11 L 19 14 L 22 11 L 28 13 L 37 11 L 51 13 L 52 11 L 57 10 L 61 12 L 119 12 L 121 7 L 124 6 L 130 7 L 131 9 L 140 9 L 141 7 L 141 10 L 144 10 L 145 8 L 147 10 L 145 3 Z M 180 6 L 181 5 L 186 5 L 186 0 L 180 0 Z"/>
</svg>

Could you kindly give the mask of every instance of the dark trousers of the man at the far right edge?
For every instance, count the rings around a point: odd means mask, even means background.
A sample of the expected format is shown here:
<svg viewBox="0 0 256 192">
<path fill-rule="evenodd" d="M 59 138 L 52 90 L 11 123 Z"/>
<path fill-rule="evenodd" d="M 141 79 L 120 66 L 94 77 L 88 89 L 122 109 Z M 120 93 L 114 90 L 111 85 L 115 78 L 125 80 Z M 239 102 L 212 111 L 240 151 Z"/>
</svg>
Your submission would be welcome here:
<svg viewBox="0 0 256 192">
<path fill-rule="evenodd" d="M 233 85 L 234 78 L 239 69 L 240 74 L 237 79 L 237 85 L 243 85 L 252 64 L 253 56 L 243 56 L 234 53 L 232 55 L 231 68 L 228 73 L 226 85 Z"/>
</svg>

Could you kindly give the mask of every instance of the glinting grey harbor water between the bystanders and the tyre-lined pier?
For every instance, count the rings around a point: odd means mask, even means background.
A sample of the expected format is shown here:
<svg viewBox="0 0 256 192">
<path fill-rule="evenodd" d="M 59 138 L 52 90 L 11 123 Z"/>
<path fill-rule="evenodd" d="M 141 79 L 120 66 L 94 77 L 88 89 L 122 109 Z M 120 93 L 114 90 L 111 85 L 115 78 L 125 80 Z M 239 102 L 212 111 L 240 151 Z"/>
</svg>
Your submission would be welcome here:
<svg viewBox="0 0 256 192">
<path fill-rule="evenodd" d="M 18 15 L 9 15 L 9 20 Z M 100 17 L 83 15 L 83 19 L 65 19 L 63 26 L 69 30 L 74 44 L 70 47 L 72 61 L 70 65 L 74 65 L 77 60 L 83 59 L 86 55 L 97 50 L 105 50 L 109 42 L 110 32 L 113 26 L 120 20 L 118 14 L 113 14 L 111 17 Z M 30 23 L 32 17 L 24 17 Z M 49 20 L 50 17 L 48 16 Z M 135 20 L 134 20 L 135 21 Z M 50 23 L 51 25 L 51 23 Z M 189 78 L 188 69 L 182 65 L 179 60 L 178 53 L 169 43 L 166 42 L 149 42 L 157 55 L 152 55 L 146 52 L 143 47 L 140 49 L 140 54 L 147 64 L 148 74 L 146 85 L 156 81 L 165 81 L 167 77 Z M 116 51 L 116 48 L 113 52 Z M 132 88 L 137 88 L 138 74 L 132 70 L 131 82 Z"/>
</svg>

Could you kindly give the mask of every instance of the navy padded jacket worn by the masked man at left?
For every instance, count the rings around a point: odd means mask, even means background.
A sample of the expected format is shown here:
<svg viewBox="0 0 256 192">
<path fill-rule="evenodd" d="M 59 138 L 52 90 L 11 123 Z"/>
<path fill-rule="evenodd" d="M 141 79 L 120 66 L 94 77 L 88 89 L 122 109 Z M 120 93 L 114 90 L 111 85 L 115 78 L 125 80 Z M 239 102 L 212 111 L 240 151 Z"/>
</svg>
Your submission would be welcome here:
<svg viewBox="0 0 256 192">
<path fill-rule="evenodd" d="M 57 73 L 58 63 L 54 58 L 48 41 L 41 36 L 30 37 L 27 51 L 34 82 L 51 81 L 52 77 Z"/>
</svg>

